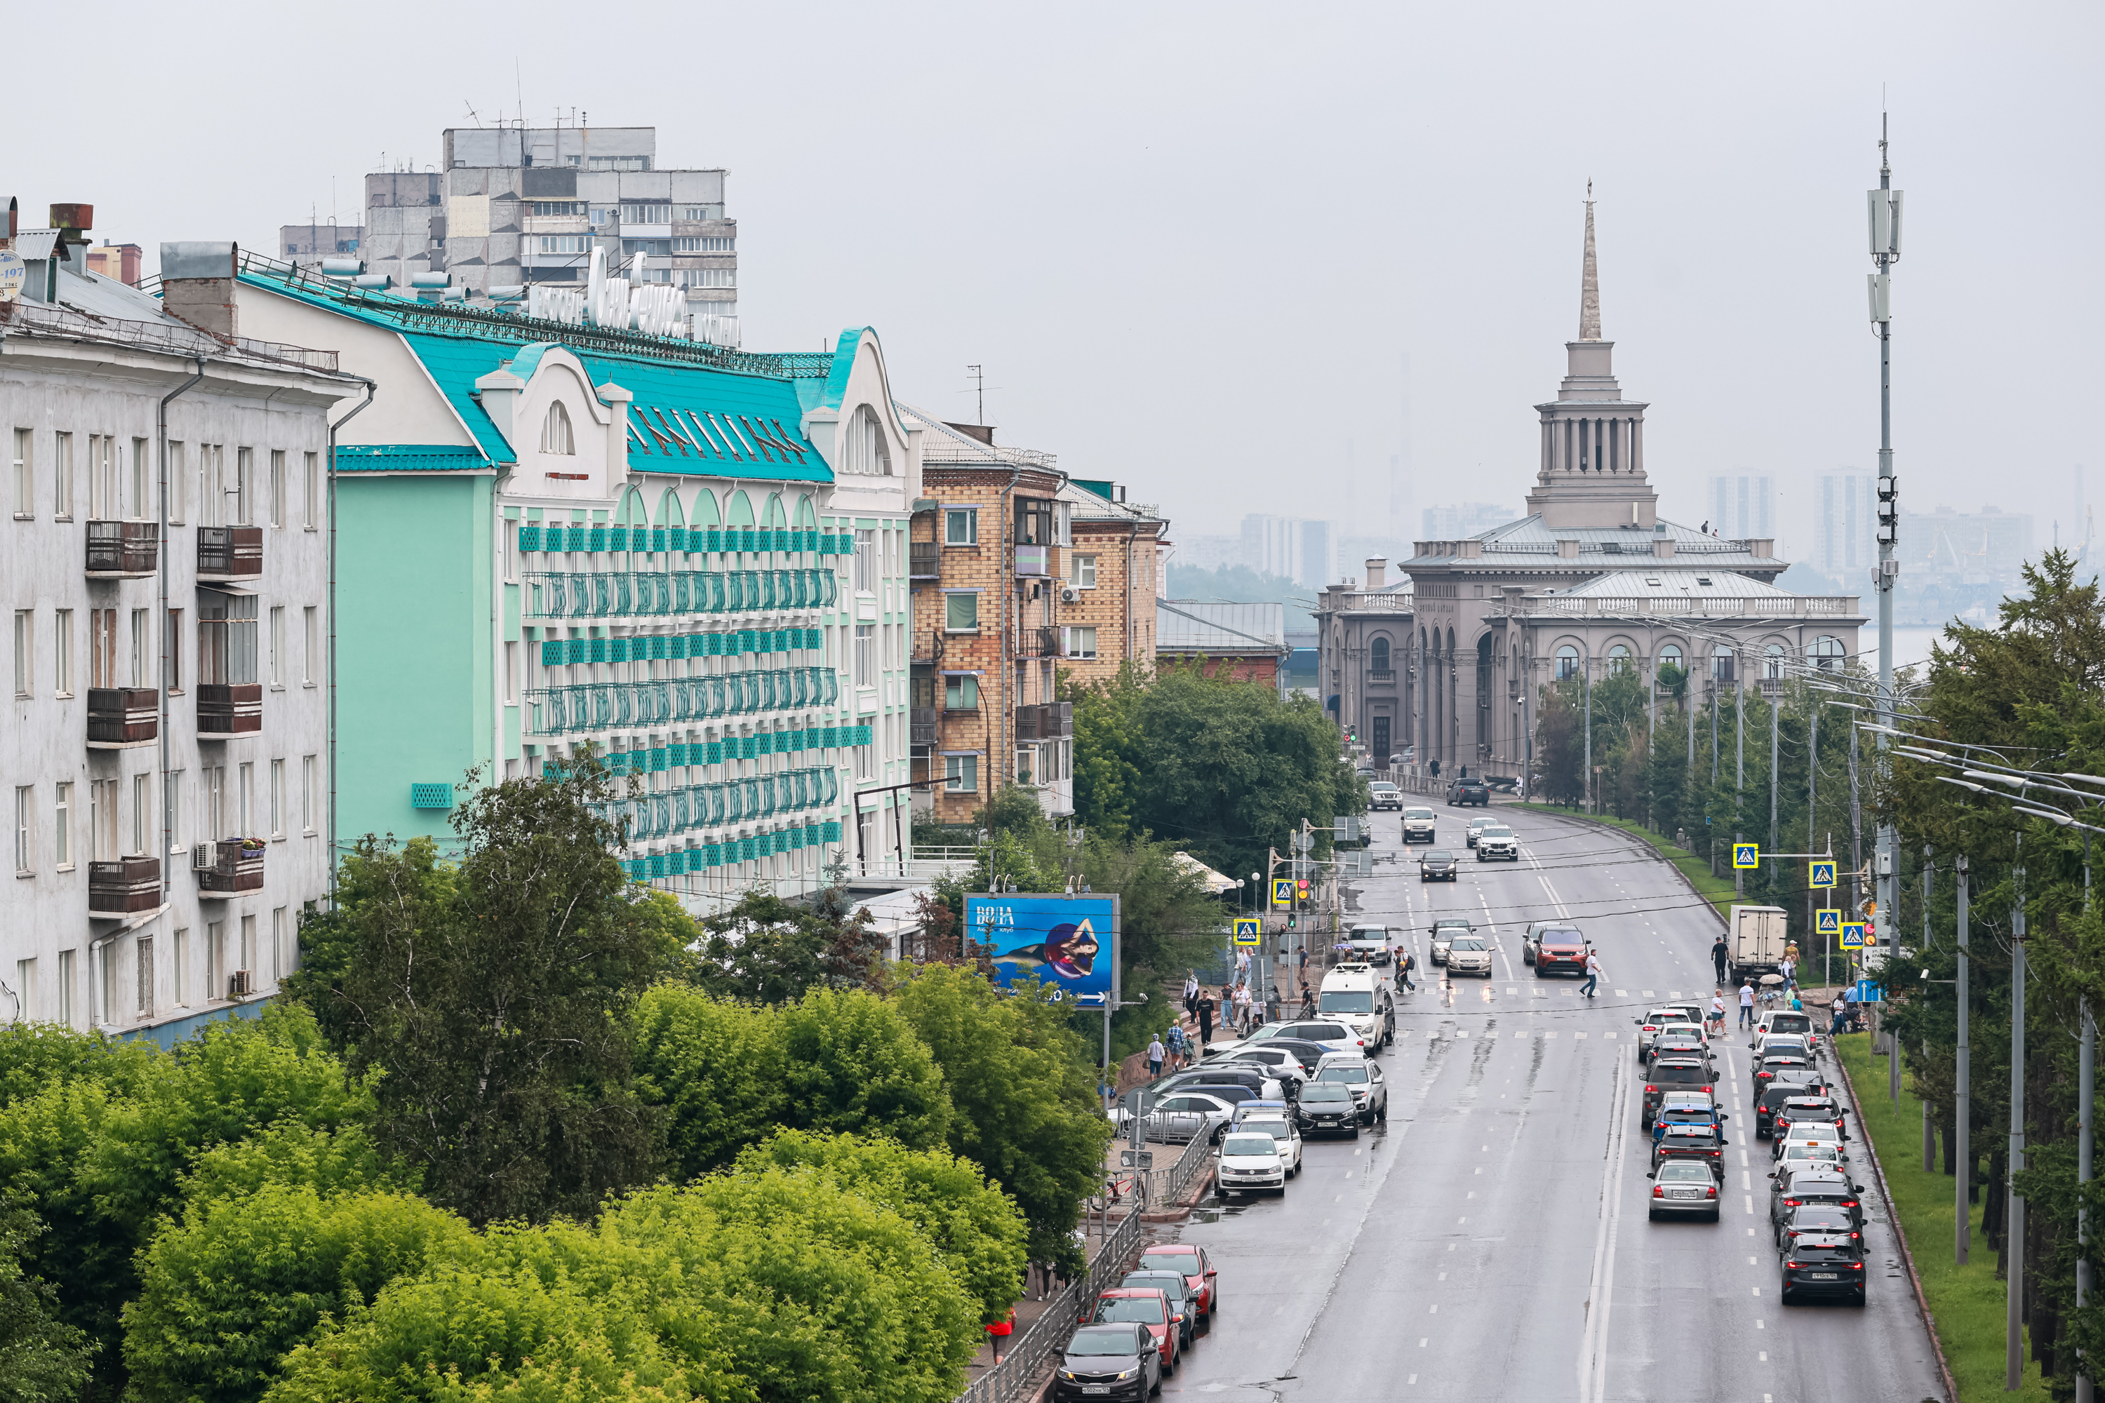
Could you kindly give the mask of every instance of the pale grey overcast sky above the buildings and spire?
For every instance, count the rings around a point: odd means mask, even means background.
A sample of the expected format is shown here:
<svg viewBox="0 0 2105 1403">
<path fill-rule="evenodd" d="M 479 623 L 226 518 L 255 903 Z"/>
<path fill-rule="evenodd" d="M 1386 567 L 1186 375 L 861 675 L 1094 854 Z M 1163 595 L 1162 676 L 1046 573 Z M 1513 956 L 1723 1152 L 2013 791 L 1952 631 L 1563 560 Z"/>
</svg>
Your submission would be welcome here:
<svg viewBox="0 0 2105 1403">
<path fill-rule="evenodd" d="M 59 21 L 51 21 L 57 25 Z M 1379 530 L 1518 507 L 1577 334 L 1650 402 L 1661 509 L 1869 469 L 1865 200 L 1880 93 L 1907 242 L 1894 440 L 1909 509 L 2105 499 L 2097 4 L 105 4 L 0 84 L 25 223 L 276 250 L 440 130 L 556 107 L 726 166 L 749 349 L 878 328 L 893 385 L 1160 501 Z M 42 29 L 27 23 L 23 34 Z M 514 63 L 518 78 L 514 78 Z M 335 191 L 335 194 L 333 194 Z M 1406 416 L 1408 364 L 1408 416 Z"/>
</svg>

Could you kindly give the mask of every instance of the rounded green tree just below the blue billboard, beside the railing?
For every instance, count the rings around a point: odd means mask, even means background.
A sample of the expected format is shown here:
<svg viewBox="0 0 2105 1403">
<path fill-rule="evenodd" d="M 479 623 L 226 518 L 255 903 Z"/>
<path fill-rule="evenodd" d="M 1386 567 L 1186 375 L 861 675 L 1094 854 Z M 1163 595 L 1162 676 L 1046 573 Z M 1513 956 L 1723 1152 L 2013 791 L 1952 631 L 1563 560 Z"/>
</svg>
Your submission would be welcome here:
<svg viewBox="0 0 2105 1403">
<path fill-rule="evenodd" d="M 1044 991 L 1004 995 L 975 972 L 909 974 L 899 1005 L 949 1087 L 949 1148 L 1023 1209 L 1031 1260 L 1080 1264 L 1074 1226 L 1103 1184 L 1103 1119 L 1082 1039 Z"/>
</svg>

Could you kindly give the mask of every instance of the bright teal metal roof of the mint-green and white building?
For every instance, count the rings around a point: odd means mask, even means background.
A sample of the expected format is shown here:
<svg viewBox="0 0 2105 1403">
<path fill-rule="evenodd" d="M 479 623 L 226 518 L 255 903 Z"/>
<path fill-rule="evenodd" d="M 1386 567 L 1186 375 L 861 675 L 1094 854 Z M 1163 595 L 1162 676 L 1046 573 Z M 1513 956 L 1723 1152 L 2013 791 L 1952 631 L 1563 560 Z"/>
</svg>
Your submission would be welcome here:
<svg viewBox="0 0 2105 1403">
<path fill-rule="evenodd" d="M 840 355 L 749 355 L 640 332 L 564 326 L 512 311 L 423 303 L 408 297 L 318 282 L 282 265 L 248 261 L 240 280 L 337 316 L 385 326 L 423 362 L 432 383 L 467 425 L 469 448 L 370 446 L 370 467 L 512 463 L 516 454 L 476 400 L 476 381 L 505 362 L 530 379 L 549 347 L 577 355 L 594 385 L 629 391 L 629 465 L 638 471 L 831 482 L 800 423 L 806 387 L 846 377 Z M 842 337 L 853 366 L 861 332 Z M 400 461 L 389 461 L 396 454 Z M 427 461 L 419 461 L 427 459 Z"/>
</svg>

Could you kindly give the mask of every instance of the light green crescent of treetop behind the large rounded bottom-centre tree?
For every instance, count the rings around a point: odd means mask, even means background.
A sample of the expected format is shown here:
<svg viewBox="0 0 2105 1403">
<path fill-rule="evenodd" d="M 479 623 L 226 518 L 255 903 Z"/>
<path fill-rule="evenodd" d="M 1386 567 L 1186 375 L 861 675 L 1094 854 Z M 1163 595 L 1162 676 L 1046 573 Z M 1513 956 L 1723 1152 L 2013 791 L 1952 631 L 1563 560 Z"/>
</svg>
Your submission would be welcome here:
<svg viewBox="0 0 2105 1403">
<path fill-rule="evenodd" d="M 1021 1294 L 1025 1224 L 985 1172 L 968 1159 L 895 1140 L 785 1130 L 739 1155 L 739 1172 L 810 1167 L 848 1193 L 882 1203 L 928 1237 L 981 1319 L 1004 1319 Z"/>
</svg>

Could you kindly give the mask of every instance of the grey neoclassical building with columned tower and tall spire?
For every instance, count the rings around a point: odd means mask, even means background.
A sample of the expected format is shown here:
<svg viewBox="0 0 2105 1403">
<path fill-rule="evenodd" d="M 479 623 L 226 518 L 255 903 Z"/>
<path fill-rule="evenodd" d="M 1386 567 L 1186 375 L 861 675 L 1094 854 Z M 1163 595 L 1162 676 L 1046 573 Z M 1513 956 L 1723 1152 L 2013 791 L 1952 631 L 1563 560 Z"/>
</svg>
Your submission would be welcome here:
<svg viewBox="0 0 2105 1403">
<path fill-rule="evenodd" d="M 1857 597 L 1779 589 L 1787 562 L 1775 541 L 1659 517 L 1644 452 L 1650 406 L 1623 398 L 1615 343 L 1602 339 L 1591 187 L 1579 339 L 1564 353 L 1556 400 L 1535 406 L 1528 515 L 1463 541 L 1419 541 L 1394 583 L 1389 562 L 1368 560 L 1364 581 L 1318 599 L 1326 705 L 1377 764 L 1408 747 L 1406 768 L 1419 774 L 1436 759 L 1442 776 L 1463 766 L 1520 774 L 1537 686 L 1558 677 L 1657 677 L 1671 665 L 1695 675 L 1705 703 L 1857 654 Z M 1661 705 L 1673 705 L 1671 692 L 1655 684 L 1655 724 Z"/>
</svg>

